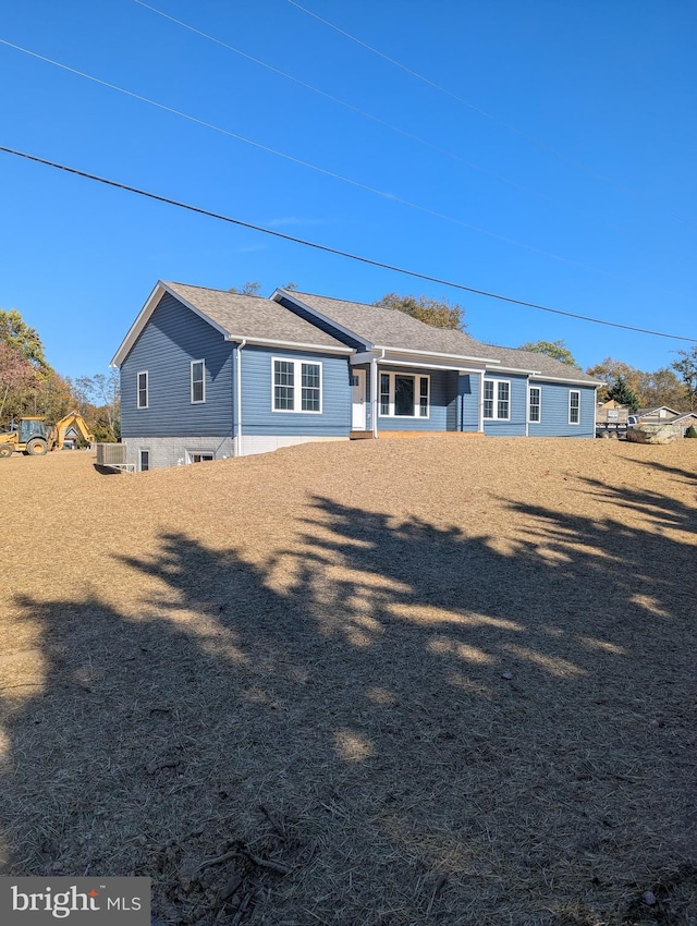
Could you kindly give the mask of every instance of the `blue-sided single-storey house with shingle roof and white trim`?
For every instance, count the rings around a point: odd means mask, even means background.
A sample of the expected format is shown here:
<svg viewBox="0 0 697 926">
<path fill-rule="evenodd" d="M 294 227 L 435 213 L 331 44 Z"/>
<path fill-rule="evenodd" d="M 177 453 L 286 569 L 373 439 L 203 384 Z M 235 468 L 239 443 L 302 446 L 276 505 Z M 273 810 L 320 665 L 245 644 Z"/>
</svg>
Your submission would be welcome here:
<svg viewBox="0 0 697 926">
<path fill-rule="evenodd" d="M 137 470 L 387 431 L 592 438 L 600 385 L 392 309 L 164 282 L 112 365 Z"/>
</svg>

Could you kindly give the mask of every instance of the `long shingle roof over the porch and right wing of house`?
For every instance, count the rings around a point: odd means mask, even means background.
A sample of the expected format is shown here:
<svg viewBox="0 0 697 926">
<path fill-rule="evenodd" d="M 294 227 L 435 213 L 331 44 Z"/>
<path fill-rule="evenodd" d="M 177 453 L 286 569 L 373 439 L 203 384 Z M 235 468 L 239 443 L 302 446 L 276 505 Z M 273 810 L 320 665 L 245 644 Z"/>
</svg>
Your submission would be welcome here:
<svg viewBox="0 0 697 926">
<path fill-rule="evenodd" d="M 271 298 L 291 300 L 320 319 L 335 322 L 340 329 L 363 341 L 368 348 L 442 354 L 463 361 L 489 363 L 499 370 L 529 373 L 550 379 L 562 379 L 565 382 L 600 385 L 600 380 L 592 376 L 546 354 L 484 344 L 463 331 L 435 328 L 399 309 L 299 293 L 295 290 L 279 289 Z"/>
</svg>

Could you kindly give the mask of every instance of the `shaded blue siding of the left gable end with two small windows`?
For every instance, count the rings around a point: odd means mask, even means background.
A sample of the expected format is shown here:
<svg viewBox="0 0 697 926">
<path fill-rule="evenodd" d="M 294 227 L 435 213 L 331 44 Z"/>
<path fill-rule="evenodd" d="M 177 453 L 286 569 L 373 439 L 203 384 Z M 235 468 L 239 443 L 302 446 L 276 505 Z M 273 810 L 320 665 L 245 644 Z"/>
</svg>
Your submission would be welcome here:
<svg viewBox="0 0 697 926">
<path fill-rule="evenodd" d="M 206 364 L 206 401 L 192 404 L 191 362 Z M 137 375 L 148 373 L 148 407 L 137 409 Z M 232 345 L 167 294 L 121 365 L 124 438 L 219 436 L 232 431 Z"/>
</svg>

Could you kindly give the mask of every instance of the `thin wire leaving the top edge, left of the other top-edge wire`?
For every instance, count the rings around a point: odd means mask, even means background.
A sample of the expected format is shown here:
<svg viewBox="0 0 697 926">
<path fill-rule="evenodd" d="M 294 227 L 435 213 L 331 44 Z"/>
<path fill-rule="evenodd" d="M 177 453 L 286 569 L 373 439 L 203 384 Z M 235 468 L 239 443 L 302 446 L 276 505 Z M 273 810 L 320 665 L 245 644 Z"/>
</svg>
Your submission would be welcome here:
<svg viewBox="0 0 697 926">
<path fill-rule="evenodd" d="M 223 41 L 220 38 L 217 38 L 209 33 L 205 33 L 201 29 L 196 28 L 196 26 L 192 26 L 189 23 L 185 23 L 183 20 L 178 20 L 175 16 L 171 16 L 169 13 L 163 12 L 162 10 L 158 10 L 156 7 L 151 7 L 149 3 L 144 2 L 144 0 L 133 0 L 134 3 L 137 3 L 138 7 L 143 7 L 146 10 L 149 10 L 151 13 L 156 13 L 158 16 L 161 16 L 163 20 L 169 20 L 171 23 L 175 23 L 178 26 L 182 28 L 188 29 L 188 32 L 194 33 L 194 35 L 200 36 L 208 41 L 212 41 L 216 45 L 219 45 L 221 48 L 228 49 L 228 51 L 232 51 L 235 54 L 239 54 L 241 58 L 245 58 L 247 61 L 252 61 L 254 64 L 258 64 L 260 68 L 266 68 L 267 71 L 271 71 L 273 74 L 278 74 L 280 77 L 284 77 L 286 81 L 292 81 L 294 84 L 303 87 L 306 90 L 310 90 L 314 94 L 317 94 L 325 99 L 330 100 L 330 102 L 334 102 L 338 106 L 343 106 L 345 109 L 351 112 L 355 112 L 357 115 L 362 115 L 364 119 L 368 119 L 371 122 L 377 123 L 378 125 L 382 125 L 384 129 L 389 129 L 391 132 L 396 132 L 399 135 L 402 135 L 405 138 L 409 138 L 412 142 L 417 142 L 419 145 L 424 145 L 427 148 L 430 148 L 432 151 L 436 151 L 439 155 L 444 155 L 447 158 L 451 158 L 458 163 L 464 165 L 470 170 L 478 171 L 479 173 L 485 174 L 486 176 L 491 176 L 494 180 L 498 180 L 500 183 L 505 183 L 509 186 L 514 187 L 515 190 L 519 190 L 523 193 L 527 193 L 531 196 L 538 196 L 540 199 L 545 199 L 547 203 L 551 203 L 553 206 L 557 206 L 561 209 L 566 209 L 573 215 L 579 216 L 583 219 L 588 219 L 590 221 L 599 222 L 606 228 L 612 229 L 620 234 L 626 234 L 621 228 L 611 222 L 607 222 L 603 219 L 599 219 L 596 216 L 590 216 L 587 212 L 583 212 L 579 209 L 570 206 L 566 203 L 562 203 L 559 199 L 555 199 L 553 196 L 549 196 L 547 193 L 541 193 L 539 190 L 533 190 L 529 186 L 525 186 L 522 183 L 518 183 L 515 180 L 511 180 L 508 176 L 502 176 L 500 173 L 496 173 L 488 168 L 481 167 L 481 165 L 477 165 L 474 161 L 469 161 L 466 158 L 463 158 L 461 155 L 455 154 L 454 151 L 450 151 L 448 148 L 442 148 L 440 145 L 436 145 L 433 142 L 430 142 L 428 138 L 421 138 L 420 135 L 415 135 L 413 132 L 408 132 L 406 129 L 401 129 L 399 125 L 394 125 L 391 122 L 388 122 L 384 119 L 381 119 L 379 115 L 374 115 L 371 112 L 367 112 L 365 109 L 360 109 L 353 103 L 347 102 L 346 100 L 341 99 L 340 97 L 335 97 L 332 94 L 328 94 L 326 90 L 320 89 L 319 87 L 315 87 L 311 84 L 302 81 L 299 77 L 295 77 L 293 74 L 289 74 L 286 71 L 281 71 L 280 68 L 276 68 L 273 64 L 269 64 L 267 61 L 261 61 L 259 58 L 255 58 L 252 54 L 248 54 L 246 51 L 242 51 L 240 48 L 235 48 L 234 45 L 229 45 L 227 41 Z"/>
</svg>

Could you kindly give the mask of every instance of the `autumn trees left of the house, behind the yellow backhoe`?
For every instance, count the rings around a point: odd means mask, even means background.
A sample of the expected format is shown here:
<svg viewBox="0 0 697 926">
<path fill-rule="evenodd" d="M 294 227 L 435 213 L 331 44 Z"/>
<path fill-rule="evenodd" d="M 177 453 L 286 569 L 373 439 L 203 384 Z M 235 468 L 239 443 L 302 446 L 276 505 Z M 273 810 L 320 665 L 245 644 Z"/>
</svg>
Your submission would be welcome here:
<svg viewBox="0 0 697 926">
<path fill-rule="evenodd" d="M 119 374 L 61 376 L 46 360 L 35 328 L 16 309 L 0 309 L 0 426 L 25 415 L 56 424 L 78 411 L 96 440 L 119 439 Z"/>
</svg>

